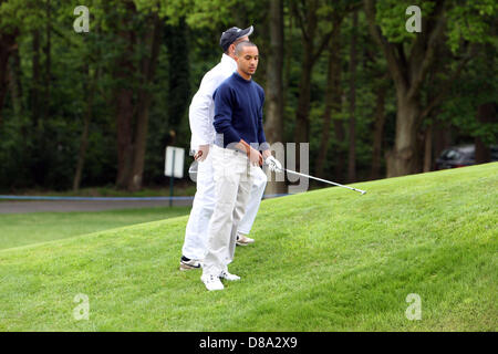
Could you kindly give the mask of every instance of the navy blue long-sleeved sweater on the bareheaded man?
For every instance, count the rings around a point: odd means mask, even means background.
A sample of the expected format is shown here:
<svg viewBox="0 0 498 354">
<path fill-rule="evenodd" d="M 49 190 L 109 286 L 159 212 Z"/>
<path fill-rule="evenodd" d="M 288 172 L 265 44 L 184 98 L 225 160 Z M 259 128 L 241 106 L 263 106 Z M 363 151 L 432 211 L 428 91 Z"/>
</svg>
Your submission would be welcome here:
<svg viewBox="0 0 498 354">
<path fill-rule="evenodd" d="M 252 80 L 237 72 L 225 80 L 212 94 L 215 100 L 215 144 L 227 147 L 243 139 L 268 148 L 262 125 L 264 91 Z"/>
</svg>

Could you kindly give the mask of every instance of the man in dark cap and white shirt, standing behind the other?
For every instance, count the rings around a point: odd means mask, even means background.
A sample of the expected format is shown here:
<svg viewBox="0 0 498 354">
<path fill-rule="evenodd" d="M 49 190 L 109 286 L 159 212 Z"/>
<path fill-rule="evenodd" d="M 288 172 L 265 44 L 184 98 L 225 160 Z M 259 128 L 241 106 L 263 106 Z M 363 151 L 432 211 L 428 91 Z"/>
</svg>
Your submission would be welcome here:
<svg viewBox="0 0 498 354">
<path fill-rule="evenodd" d="M 209 154 L 216 137 L 212 125 L 215 116 L 212 93 L 237 71 L 235 48 L 238 43 L 248 41 L 252 31 L 252 25 L 245 30 L 234 27 L 221 34 L 220 46 L 224 50 L 221 61 L 204 75 L 190 104 L 190 149 L 195 152 L 194 158 L 198 163 L 197 192 L 185 231 L 180 270 L 200 268 L 207 252 L 208 226 L 216 204 L 212 158 Z M 258 168 L 246 214 L 238 227 L 237 244 L 239 246 L 247 246 L 255 241 L 247 235 L 251 230 L 266 186 L 267 176 L 261 168 Z"/>
</svg>

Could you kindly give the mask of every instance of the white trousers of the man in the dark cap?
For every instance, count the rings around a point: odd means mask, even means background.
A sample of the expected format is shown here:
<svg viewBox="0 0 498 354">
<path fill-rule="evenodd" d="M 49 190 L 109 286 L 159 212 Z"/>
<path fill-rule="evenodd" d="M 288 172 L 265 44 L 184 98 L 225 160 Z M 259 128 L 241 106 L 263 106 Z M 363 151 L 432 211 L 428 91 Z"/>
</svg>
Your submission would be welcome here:
<svg viewBox="0 0 498 354">
<path fill-rule="evenodd" d="M 198 163 L 197 167 L 197 191 L 190 210 L 190 217 L 188 218 L 184 247 L 181 249 L 181 254 L 189 259 L 203 260 L 207 251 L 209 219 L 215 210 L 216 202 L 212 150 L 214 147 L 211 146 L 207 158 Z M 239 225 L 239 232 L 243 235 L 250 232 L 266 186 L 267 175 L 261 168 L 257 168 L 246 214 Z"/>
</svg>

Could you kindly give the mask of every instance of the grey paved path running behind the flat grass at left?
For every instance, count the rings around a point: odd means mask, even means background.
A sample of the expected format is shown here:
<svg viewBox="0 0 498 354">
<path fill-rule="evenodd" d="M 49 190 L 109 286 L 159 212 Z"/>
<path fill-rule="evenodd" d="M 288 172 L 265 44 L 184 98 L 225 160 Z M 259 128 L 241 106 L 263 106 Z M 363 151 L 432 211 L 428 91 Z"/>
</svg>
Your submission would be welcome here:
<svg viewBox="0 0 498 354">
<path fill-rule="evenodd" d="M 191 206 L 193 200 L 173 200 L 173 206 Z M 40 211 L 100 211 L 113 209 L 139 209 L 168 207 L 168 200 L 37 200 L 0 201 L 0 214 L 24 214 Z"/>
</svg>

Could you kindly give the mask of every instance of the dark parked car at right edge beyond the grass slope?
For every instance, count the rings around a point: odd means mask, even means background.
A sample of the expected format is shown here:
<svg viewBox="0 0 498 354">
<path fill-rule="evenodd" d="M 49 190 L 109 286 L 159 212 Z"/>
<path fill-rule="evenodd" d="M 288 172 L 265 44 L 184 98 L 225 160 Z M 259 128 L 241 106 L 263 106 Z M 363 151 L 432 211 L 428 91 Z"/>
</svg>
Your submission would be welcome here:
<svg viewBox="0 0 498 354">
<path fill-rule="evenodd" d="M 491 162 L 498 162 L 498 145 L 490 147 Z M 436 169 L 465 167 L 476 165 L 476 146 L 459 145 L 445 149 L 436 159 Z"/>
</svg>

